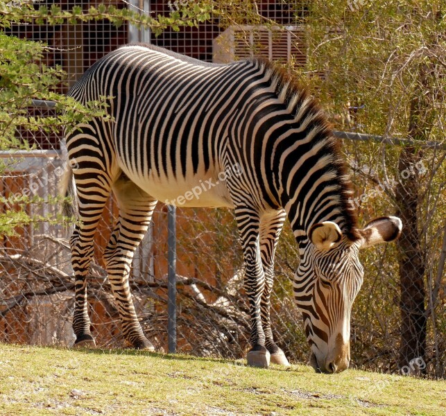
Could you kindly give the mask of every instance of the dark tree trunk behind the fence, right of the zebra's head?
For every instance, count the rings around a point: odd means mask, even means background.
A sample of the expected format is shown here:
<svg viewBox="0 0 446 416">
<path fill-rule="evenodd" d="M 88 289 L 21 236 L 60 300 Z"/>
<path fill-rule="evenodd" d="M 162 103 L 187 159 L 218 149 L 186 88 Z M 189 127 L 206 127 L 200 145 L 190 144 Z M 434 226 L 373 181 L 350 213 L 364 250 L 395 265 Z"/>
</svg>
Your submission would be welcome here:
<svg viewBox="0 0 446 416">
<path fill-rule="evenodd" d="M 429 120 L 429 68 L 420 64 L 419 83 L 410 103 L 409 137 L 426 140 L 431 128 Z M 404 372 L 425 371 L 426 353 L 426 309 L 424 306 L 425 254 L 420 248 L 418 232 L 418 202 L 420 197 L 419 167 L 422 151 L 413 146 L 404 147 L 400 153 L 398 172 L 400 180 L 395 189 L 398 214 L 403 223 L 402 235 L 398 242 L 401 290 L 401 344 L 400 368 Z M 418 167 L 418 168 L 417 168 Z M 418 360 L 414 361 L 415 358 Z M 421 361 L 422 360 L 422 361 Z M 409 370 L 408 370 L 409 369 Z"/>
</svg>

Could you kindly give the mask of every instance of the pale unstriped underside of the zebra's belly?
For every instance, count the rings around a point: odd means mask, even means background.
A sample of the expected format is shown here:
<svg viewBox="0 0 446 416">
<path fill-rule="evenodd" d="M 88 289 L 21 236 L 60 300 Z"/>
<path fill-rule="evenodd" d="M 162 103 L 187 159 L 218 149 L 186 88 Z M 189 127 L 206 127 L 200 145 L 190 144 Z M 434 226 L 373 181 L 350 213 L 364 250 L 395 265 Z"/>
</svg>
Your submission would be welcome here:
<svg viewBox="0 0 446 416">
<path fill-rule="evenodd" d="M 148 195 L 167 205 L 234 208 L 225 180 L 220 180 L 217 175 L 172 179 L 165 175 L 141 177 L 125 170 L 124 172 Z"/>
</svg>

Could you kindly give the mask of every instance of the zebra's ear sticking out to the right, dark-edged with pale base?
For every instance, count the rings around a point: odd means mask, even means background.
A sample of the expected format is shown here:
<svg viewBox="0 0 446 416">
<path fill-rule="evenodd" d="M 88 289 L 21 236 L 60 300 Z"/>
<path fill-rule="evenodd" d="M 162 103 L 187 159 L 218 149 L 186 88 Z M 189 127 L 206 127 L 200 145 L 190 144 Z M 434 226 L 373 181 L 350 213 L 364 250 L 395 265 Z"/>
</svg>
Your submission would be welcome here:
<svg viewBox="0 0 446 416">
<path fill-rule="evenodd" d="M 400 218 L 388 216 L 370 221 L 364 229 L 359 229 L 361 234 L 360 248 L 368 248 L 379 243 L 389 243 L 396 240 L 402 230 Z"/>
</svg>

